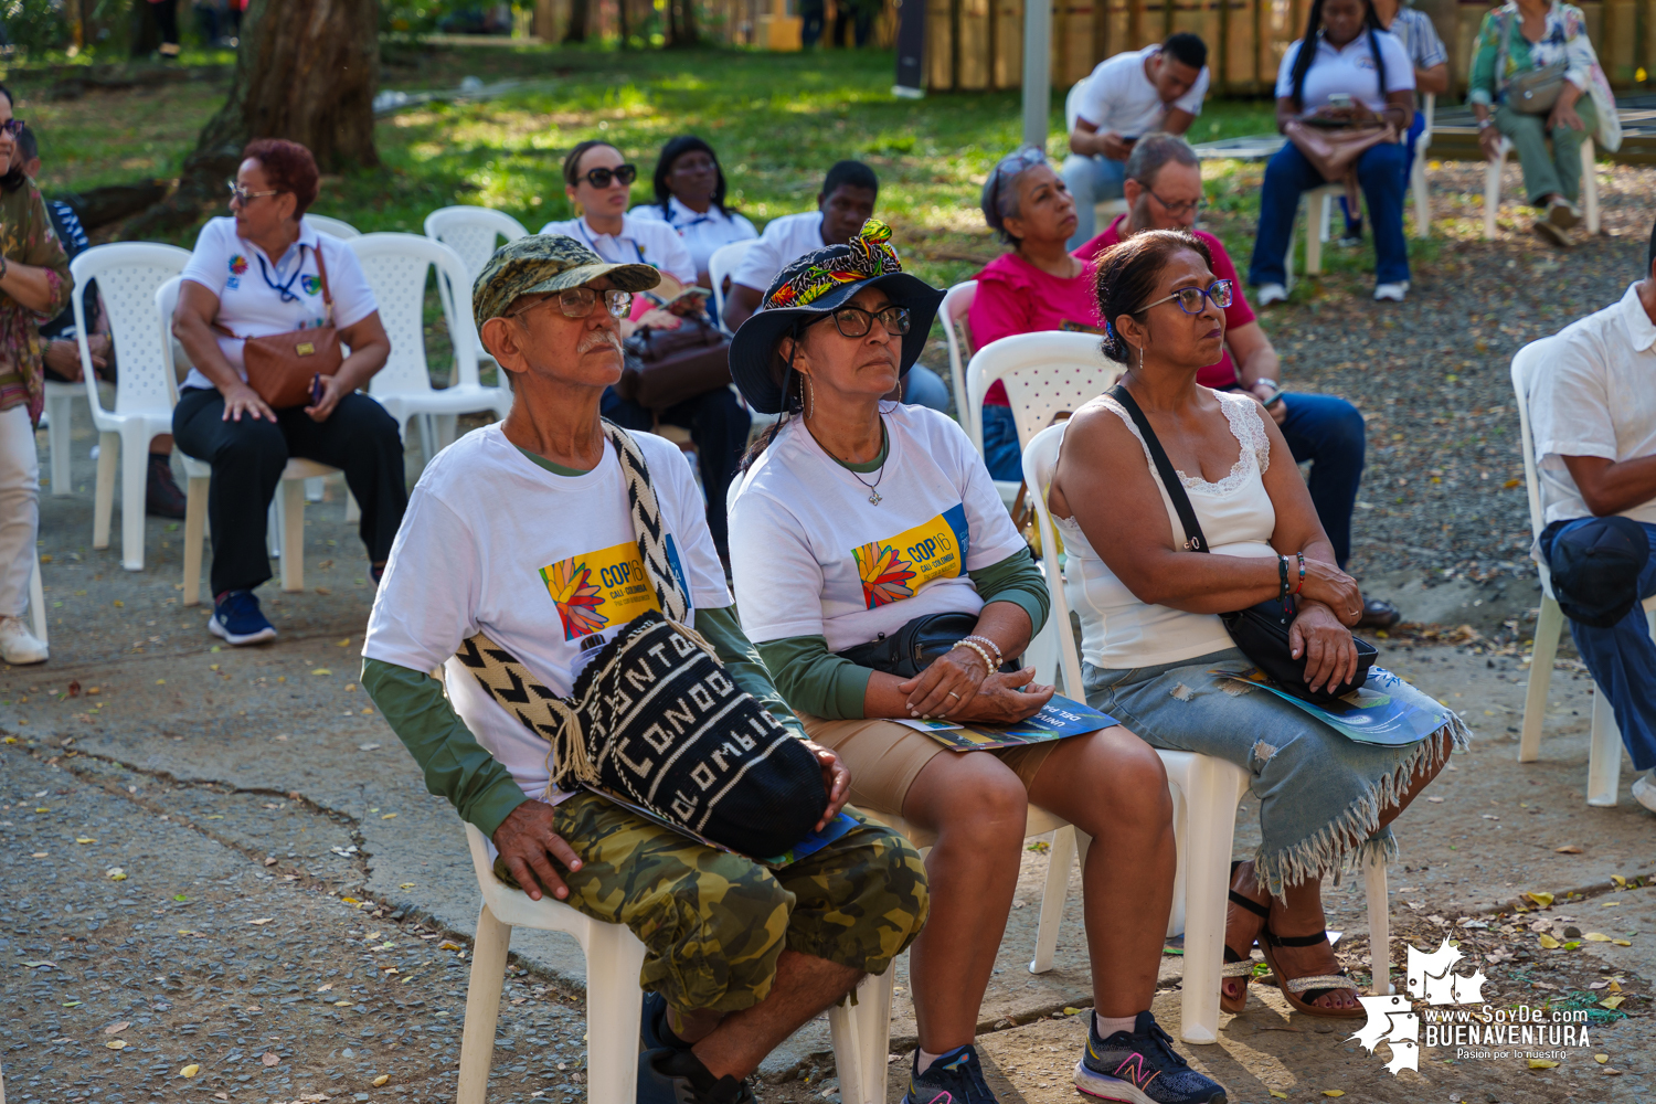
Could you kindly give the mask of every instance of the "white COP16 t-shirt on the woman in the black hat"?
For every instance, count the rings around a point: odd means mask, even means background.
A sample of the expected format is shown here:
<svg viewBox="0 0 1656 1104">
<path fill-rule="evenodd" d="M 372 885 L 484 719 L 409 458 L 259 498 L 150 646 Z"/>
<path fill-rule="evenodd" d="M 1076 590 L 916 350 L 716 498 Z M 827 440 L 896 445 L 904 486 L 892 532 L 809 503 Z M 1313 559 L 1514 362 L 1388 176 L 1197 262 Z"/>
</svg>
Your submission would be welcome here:
<svg viewBox="0 0 1656 1104">
<path fill-rule="evenodd" d="M 747 639 L 823 636 L 840 652 L 914 617 L 975 614 L 984 599 L 967 571 L 1025 546 L 952 419 L 919 406 L 883 417 L 881 472 L 846 470 L 790 419 L 744 477 L 730 566 Z"/>
</svg>

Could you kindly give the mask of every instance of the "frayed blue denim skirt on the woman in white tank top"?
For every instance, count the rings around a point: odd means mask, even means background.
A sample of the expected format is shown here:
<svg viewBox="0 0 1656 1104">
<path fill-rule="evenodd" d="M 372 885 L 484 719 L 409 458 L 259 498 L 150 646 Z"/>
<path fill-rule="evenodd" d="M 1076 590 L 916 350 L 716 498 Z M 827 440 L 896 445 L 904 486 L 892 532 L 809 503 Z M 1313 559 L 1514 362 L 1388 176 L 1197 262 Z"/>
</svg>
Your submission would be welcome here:
<svg viewBox="0 0 1656 1104">
<path fill-rule="evenodd" d="M 1441 761 L 1467 738 L 1452 718 L 1406 748 L 1356 743 L 1268 690 L 1212 675 L 1219 665 L 1252 665 L 1225 649 L 1158 667 L 1105 670 L 1083 664 L 1086 703 L 1169 751 L 1197 751 L 1249 771 L 1259 798 L 1260 884 L 1283 886 L 1355 869 L 1365 856 L 1389 861 L 1398 849 L 1379 813 L 1396 803 L 1423 760 Z M 1436 705 L 1414 687 L 1423 705 Z"/>
</svg>

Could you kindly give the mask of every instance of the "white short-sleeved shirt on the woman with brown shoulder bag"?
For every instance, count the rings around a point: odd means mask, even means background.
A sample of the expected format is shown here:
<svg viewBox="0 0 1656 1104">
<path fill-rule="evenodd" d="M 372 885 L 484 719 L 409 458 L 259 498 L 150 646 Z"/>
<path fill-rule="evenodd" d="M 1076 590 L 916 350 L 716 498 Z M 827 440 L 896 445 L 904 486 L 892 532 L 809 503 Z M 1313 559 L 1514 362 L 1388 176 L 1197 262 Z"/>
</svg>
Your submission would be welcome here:
<svg viewBox="0 0 1656 1104">
<path fill-rule="evenodd" d="M 379 305 L 351 247 L 318 233 L 305 220 L 300 220 L 298 240 L 275 260 L 252 242 L 235 237 L 235 218 L 212 218 L 202 227 L 184 278 L 219 296 L 214 321 L 237 334 L 219 334 L 219 349 L 242 379 L 247 379 L 247 369 L 242 366 L 240 338 L 268 338 L 328 324 L 321 276 L 316 275 L 318 248 L 328 266 L 333 324 L 344 329 L 378 311 Z M 184 386 L 212 387 L 214 382 L 192 367 Z"/>
</svg>

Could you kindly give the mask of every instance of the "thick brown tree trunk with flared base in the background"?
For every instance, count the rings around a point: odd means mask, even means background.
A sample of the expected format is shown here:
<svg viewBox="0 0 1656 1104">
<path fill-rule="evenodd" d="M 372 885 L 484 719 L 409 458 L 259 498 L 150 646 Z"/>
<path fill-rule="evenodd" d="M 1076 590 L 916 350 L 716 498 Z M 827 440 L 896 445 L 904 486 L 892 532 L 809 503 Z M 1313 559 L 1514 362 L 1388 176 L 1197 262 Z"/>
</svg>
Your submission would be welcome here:
<svg viewBox="0 0 1656 1104">
<path fill-rule="evenodd" d="M 224 108 L 202 127 L 179 187 L 128 232 L 142 237 L 195 222 L 224 200 L 224 180 L 255 137 L 301 142 L 323 172 L 378 166 L 378 83 L 376 0 L 252 0 Z"/>
</svg>

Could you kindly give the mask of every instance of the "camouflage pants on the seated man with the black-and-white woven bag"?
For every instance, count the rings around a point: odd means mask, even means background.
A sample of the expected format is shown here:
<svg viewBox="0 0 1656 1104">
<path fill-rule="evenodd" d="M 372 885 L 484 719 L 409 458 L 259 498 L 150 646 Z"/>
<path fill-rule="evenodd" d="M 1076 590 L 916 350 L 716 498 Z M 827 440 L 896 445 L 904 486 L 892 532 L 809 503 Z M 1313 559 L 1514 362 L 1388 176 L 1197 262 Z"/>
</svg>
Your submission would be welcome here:
<svg viewBox="0 0 1656 1104">
<path fill-rule="evenodd" d="M 555 831 L 581 857 L 560 871 L 568 904 L 626 924 L 644 943 L 639 985 L 681 1011 L 740 1011 L 770 995 L 787 950 L 884 973 L 919 935 L 926 866 L 907 839 L 846 809 L 858 826 L 780 871 L 652 824 L 591 793 L 555 806 Z M 495 877 L 515 884 L 495 861 Z"/>
</svg>

